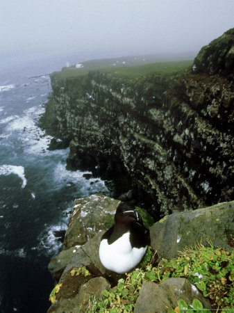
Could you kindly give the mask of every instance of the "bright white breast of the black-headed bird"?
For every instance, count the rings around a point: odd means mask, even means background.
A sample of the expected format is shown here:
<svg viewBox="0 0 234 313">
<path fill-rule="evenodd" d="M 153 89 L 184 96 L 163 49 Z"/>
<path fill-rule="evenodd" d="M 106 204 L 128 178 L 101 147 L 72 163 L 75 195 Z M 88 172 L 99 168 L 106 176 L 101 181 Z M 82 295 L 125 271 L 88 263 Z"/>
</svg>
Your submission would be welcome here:
<svg viewBox="0 0 234 313">
<path fill-rule="evenodd" d="M 126 232 L 110 245 L 107 239 L 103 239 L 99 247 L 99 257 L 103 266 L 108 270 L 126 273 L 140 262 L 146 250 L 147 246 L 132 248 L 130 232 Z"/>
</svg>

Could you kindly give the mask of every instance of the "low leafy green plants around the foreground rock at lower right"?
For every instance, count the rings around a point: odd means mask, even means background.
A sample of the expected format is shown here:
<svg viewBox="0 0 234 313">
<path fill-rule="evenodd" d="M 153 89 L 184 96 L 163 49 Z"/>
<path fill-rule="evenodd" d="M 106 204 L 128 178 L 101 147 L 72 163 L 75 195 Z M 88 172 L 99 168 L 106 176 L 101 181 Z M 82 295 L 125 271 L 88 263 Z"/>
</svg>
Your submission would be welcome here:
<svg viewBox="0 0 234 313">
<path fill-rule="evenodd" d="M 147 262 L 145 262 L 147 261 Z M 162 259 L 154 266 L 154 255 L 149 247 L 142 262 L 144 268 L 128 273 L 126 280 L 120 279 L 117 286 L 103 291 L 102 298 L 90 299 L 88 312 L 133 312 L 135 301 L 144 281 L 162 282 L 168 278 L 187 278 L 210 300 L 212 309 L 230 312 L 234 309 L 234 251 L 208 247 L 201 243 L 180 252 L 179 257 Z M 181 307 L 183 306 L 183 310 Z M 181 300 L 171 312 L 209 312 L 199 300 L 187 305 Z M 228 311 L 229 310 L 229 311 Z"/>
</svg>

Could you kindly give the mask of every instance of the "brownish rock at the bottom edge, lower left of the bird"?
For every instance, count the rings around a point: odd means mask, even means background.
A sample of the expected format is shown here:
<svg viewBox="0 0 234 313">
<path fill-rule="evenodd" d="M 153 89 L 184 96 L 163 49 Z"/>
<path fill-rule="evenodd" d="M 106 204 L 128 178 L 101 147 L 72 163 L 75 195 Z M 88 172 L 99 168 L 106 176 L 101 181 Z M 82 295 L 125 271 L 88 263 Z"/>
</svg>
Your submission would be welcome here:
<svg viewBox="0 0 234 313">
<path fill-rule="evenodd" d="M 110 289 L 110 284 L 105 278 L 91 278 L 81 285 L 78 294 L 72 295 L 72 298 L 60 298 L 51 305 L 48 313 L 87 312 L 90 296 L 100 297 L 105 289 Z"/>
</svg>

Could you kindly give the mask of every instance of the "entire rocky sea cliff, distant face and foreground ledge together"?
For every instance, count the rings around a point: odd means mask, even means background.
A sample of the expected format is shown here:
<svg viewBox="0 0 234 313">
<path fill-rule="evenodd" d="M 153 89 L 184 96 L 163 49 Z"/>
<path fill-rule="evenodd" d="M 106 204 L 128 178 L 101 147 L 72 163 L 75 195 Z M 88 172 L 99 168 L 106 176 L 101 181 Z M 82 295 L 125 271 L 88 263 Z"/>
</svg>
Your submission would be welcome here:
<svg viewBox="0 0 234 313">
<path fill-rule="evenodd" d="M 51 74 L 41 121 L 56 136 L 51 148 L 69 145 L 67 167 L 112 179 L 118 199 L 74 202 L 49 264 L 58 283 L 49 312 L 174 312 L 181 299 L 195 312 L 233 309 L 233 68 L 231 29 L 183 72 Z M 157 222 L 153 251 L 119 277 L 98 250 L 124 197 Z"/>
</svg>

